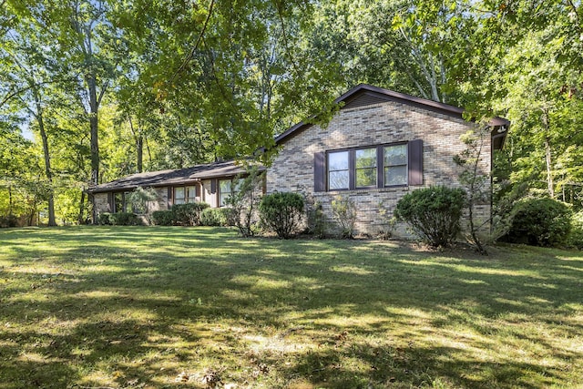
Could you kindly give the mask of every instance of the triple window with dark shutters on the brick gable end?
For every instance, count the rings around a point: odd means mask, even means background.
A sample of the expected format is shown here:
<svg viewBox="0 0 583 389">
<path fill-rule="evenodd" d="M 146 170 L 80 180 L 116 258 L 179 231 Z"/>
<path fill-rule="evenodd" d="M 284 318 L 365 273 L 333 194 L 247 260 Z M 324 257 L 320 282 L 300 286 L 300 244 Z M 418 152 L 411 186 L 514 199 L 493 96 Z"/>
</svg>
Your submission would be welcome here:
<svg viewBox="0 0 583 389">
<path fill-rule="evenodd" d="M 314 191 L 423 185 L 423 142 L 317 152 Z"/>
</svg>

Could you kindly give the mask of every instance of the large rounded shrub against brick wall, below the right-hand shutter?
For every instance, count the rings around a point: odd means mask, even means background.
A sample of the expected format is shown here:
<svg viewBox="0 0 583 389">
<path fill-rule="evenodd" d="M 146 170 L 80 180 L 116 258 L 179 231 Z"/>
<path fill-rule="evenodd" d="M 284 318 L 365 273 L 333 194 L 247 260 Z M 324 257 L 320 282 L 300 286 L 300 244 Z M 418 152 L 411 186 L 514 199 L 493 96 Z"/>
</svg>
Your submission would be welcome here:
<svg viewBox="0 0 583 389">
<path fill-rule="evenodd" d="M 445 186 L 417 189 L 399 200 L 394 216 L 409 224 L 428 244 L 446 247 L 461 230 L 464 204 L 464 189 Z"/>
</svg>

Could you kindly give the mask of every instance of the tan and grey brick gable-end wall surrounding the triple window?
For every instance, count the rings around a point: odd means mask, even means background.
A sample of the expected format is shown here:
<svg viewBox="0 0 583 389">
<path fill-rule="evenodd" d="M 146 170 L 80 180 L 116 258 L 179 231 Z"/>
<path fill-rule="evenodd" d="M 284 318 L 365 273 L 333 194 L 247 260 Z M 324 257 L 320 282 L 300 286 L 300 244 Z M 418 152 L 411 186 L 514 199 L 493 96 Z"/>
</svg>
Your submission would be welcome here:
<svg viewBox="0 0 583 389">
<path fill-rule="evenodd" d="M 386 211 L 392 215 L 394 206 L 410 190 L 431 185 L 460 186 L 460 168 L 453 157 L 465 149 L 460 136 L 474 123 L 461 118 L 435 113 L 423 108 L 397 102 L 385 102 L 364 107 L 343 108 L 326 128 L 312 126 L 288 138 L 267 173 L 267 192 L 292 191 L 313 197 L 322 204 L 329 230 L 334 231 L 331 201 L 334 196 L 345 195 L 357 205 L 356 230 L 375 235 L 386 229 Z M 314 153 L 337 148 L 353 148 L 384 143 L 423 140 L 424 184 L 422 186 L 356 189 L 315 192 Z M 490 145 L 485 146 L 480 169 L 490 171 Z M 484 219 L 490 214 L 489 204 L 476 207 Z M 404 225 L 398 225 L 397 236 L 408 236 Z"/>
</svg>

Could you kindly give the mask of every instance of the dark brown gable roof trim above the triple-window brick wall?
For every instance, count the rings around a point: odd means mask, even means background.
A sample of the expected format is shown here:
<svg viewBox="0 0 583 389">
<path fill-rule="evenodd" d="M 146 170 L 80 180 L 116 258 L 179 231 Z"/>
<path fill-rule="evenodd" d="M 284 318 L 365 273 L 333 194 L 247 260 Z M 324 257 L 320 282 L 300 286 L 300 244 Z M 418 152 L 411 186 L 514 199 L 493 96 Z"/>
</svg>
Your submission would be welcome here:
<svg viewBox="0 0 583 389">
<path fill-rule="evenodd" d="M 394 92 L 393 90 L 384 89 L 382 87 L 374 87 L 368 84 L 360 84 L 356 87 L 353 87 L 351 90 L 344 93 L 343 96 L 336 98 L 334 100 L 334 104 L 343 102 L 344 106 L 341 109 L 346 109 L 353 107 L 364 107 L 383 103 L 386 101 L 395 101 L 412 107 L 420 107 L 437 113 L 450 115 L 455 118 L 462 118 L 462 114 L 465 111 L 460 107 L 454 107 L 448 104 L 439 103 L 434 100 L 414 97 L 404 93 Z M 504 138 L 506 137 L 506 129 L 508 126 L 510 126 L 510 121 L 506 118 L 496 117 L 490 120 L 489 125 L 493 128 L 492 141 L 494 148 L 502 148 L 504 144 Z M 288 128 L 286 131 L 281 133 L 281 135 L 275 138 L 275 144 L 281 145 L 288 139 L 298 135 L 304 129 L 311 126 L 311 123 L 302 121 L 292 128 Z M 500 131 L 502 128 L 504 128 L 504 130 Z"/>
</svg>

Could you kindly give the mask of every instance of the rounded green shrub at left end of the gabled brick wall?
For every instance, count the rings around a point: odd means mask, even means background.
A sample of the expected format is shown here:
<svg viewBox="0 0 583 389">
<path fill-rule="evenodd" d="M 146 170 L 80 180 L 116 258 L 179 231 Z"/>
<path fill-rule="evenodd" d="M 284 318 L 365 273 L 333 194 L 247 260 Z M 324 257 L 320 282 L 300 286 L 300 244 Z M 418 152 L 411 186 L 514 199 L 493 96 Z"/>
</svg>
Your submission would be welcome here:
<svg viewBox="0 0 583 389">
<path fill-rule="evenodd" d="M 300 229 L 303 197 L 298 193 L 271 193 L 261 199 L 259 210 L 262 223 L 278 237 L 288 239 Z"/>
</svg>

